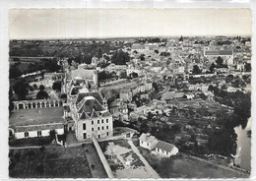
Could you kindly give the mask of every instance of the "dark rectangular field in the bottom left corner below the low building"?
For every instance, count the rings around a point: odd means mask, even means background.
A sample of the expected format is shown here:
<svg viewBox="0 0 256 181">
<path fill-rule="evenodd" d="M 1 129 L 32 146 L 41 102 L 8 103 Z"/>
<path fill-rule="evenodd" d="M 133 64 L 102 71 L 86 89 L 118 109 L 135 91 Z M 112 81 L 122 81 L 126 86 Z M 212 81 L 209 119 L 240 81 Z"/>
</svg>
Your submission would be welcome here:
<svg viewBox="0 0 256 181">
<path fill-rule="evenodd" d="M 86 148 L 46 148 L 9 152 L 13 178 L 92 178 Z"/>
</svg>

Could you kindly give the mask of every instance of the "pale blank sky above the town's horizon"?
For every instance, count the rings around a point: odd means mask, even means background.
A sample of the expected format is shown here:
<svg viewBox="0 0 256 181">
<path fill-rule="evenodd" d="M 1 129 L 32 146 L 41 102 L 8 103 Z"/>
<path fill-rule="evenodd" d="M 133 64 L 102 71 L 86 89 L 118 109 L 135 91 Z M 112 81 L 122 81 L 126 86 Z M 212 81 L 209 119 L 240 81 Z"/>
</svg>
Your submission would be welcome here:
<svg viewBox="0 0 256 181">
<path fill-rule="evenodd" d="M 11 9 L 10 39 L 251 35 L 250 9 Z"/>
</svg>

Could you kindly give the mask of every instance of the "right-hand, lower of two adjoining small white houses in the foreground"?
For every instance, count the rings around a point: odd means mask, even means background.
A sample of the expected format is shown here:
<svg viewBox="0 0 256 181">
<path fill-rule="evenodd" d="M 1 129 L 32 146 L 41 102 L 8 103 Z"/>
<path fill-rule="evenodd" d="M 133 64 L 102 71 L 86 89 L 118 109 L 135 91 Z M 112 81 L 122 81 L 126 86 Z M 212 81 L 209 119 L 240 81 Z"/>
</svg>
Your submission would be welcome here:
<svg viewBox="0 0 256 181">
<path fill-rule="evenodd" d="M 170 156 L 178 153 L 178 149 L 172 144 L 159 141 L 156 145 L 156 152 L 160 155 Z"/>
</svg>

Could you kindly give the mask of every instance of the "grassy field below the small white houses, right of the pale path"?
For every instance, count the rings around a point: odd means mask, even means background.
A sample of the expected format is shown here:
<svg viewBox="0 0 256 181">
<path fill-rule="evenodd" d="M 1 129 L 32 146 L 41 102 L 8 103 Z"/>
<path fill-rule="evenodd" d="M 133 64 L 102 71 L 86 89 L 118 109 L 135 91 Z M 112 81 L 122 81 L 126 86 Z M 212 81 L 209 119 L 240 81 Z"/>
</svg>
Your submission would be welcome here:
<svg viewBox="0 0 256 181">
<path fill-rule="evenodd" d="M 140 151 L 161 178 L 247 178 L 249 176 L 183 153 L 164 158 L 142 148 Z"/>
</svg>

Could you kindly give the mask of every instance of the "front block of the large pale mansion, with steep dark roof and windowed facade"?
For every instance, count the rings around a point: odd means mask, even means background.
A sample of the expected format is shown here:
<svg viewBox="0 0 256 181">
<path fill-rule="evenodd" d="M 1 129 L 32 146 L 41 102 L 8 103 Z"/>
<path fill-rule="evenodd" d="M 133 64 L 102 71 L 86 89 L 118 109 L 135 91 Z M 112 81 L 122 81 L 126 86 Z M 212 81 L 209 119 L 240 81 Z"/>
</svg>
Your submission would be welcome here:
<svg viewBox="0 0 256 181">
<path fill-rule="evenodd" d="M 92 139 L 93 135 L 96 138 L 113 135 L 112 115 L 97 93 L 81 91 L 70 103 L 78 141 Z"/>
</svg>

